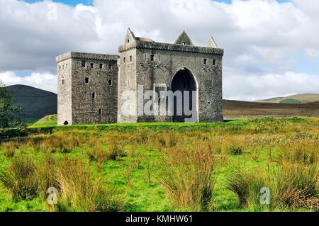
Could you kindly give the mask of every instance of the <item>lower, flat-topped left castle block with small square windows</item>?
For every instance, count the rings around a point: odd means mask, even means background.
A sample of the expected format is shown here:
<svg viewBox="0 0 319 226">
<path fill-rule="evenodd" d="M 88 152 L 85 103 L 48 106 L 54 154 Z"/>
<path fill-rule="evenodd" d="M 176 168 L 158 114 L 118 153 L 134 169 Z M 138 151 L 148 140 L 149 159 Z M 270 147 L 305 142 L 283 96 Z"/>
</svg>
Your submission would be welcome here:
<svg viewBox="0 0 319 226">
<path fill-rule="evenodd" d="M 67 96 L 70 101 L 65 103 L 62 103 L 65 94 L 60 95 L 60 122 L 64 122 L 67 115 L 71 118 L 69 125 L 116 123 L 118 56 L 71 52 L 57 60 L 64 59 L 72 65 L 69 71 L 72 93 L 71 97 Z"/>
</svg>

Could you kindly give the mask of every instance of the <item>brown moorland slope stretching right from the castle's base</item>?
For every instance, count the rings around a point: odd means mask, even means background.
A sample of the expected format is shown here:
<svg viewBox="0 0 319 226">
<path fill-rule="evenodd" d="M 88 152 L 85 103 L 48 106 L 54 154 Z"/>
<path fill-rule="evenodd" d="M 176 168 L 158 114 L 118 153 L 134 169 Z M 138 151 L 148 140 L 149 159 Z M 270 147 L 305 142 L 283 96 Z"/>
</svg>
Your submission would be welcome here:
<svg viewBox="0 0 319 226">
<path fill-rule="evenodd" d="M 225 119 L 262 117 L 319 117 L 319 102 L 313 103 L 255 103 L 223 101 Z"/>
</svg>

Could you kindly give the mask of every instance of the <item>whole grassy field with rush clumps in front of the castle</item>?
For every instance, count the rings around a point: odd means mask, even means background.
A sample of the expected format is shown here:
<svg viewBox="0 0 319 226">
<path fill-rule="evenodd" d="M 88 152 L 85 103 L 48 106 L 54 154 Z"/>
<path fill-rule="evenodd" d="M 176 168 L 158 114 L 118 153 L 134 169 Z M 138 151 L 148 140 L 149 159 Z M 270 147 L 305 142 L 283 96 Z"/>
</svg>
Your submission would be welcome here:
<svg viewBox="0 0 319 226">
<path fill-rule="evenodd" d="M 0 211 L 319 209 L 318 118 L 36 132 L 1 143 Z M 47 204 L 50 187 L 57 205 Z"/>
</svg>

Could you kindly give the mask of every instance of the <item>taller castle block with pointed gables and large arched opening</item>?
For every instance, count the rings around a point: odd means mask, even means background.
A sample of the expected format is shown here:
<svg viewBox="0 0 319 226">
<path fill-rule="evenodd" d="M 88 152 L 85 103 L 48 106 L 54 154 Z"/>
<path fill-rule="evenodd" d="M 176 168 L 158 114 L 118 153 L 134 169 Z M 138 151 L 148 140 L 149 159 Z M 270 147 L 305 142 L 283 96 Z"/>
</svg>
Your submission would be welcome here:
<svg viewBox="0 0 319 226">
<path fill-rule="evenodd" d="M 118 123 L 134 122 L 217 122 L 223 120 L 222 60 L 223 49 L 213 38 L 207 47 L 195 46 L 184 31 L 174 44 L 157 43 L 147 38 L 135 37 L 128 28 L 118 59 Z M 173 115 L 146 115 L 141 106 L 147 100 L 140 98 L 139 87 L 144 91 L 189 91 L 193 114 L 177 115 L 173 103 Z M 127 94 L 135 96 L 133 114 L 125 111 Z M 192 98 L 194 97 L 194 98 Z M 183 98 L 183 109 L 184 100 Z M 142 101 L 141 101 L 142 100 Z"/>
</svg>

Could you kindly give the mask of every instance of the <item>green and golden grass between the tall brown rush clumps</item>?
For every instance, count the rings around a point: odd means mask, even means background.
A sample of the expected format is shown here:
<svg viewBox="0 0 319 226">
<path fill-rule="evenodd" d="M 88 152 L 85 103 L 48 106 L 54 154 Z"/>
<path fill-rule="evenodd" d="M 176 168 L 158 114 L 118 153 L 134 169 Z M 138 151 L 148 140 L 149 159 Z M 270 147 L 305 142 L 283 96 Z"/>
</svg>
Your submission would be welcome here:
<svg viewBox="0 0 319 226">
<path fill-rule="evenodd" d="M 70 146 L 71 152 L 52 152 L 55 159 L 80 157 L 89 161 L 89 149 L 107 149 L 117 142 L 125 149 L 125 156 L 116 160 L 98 162 L 91 160 L 91 175 L 103 177 L 105 186 L 113 186 L 124 198 L 125 211 L 173 211 L 163 186 L 159 183 L 162 174 L 163 149 L 194 149 L 197 143 L 203 148 L 213 147 L 216 157 L 216 177 L 210 211 L 262 211 L 260 206 L 240 208 L 237 196 L 228 189 L 230 172 L 247 171 L 253 174 L 267 174 L 281 165 L 287 144 L 302 144 L 315 147 L 319 137 L 319 118 L 263 118 L 254 120 L 230 120 L 225 123 L 135 123 L 113 125 L 74 125 L 54 127 L 55 117 L 48 117 L 30 129 L 37 133 L 30 135 L 29 141 L 41 138 L 50 144 L 50 137 L 59 137 L 68 144 L 78 137 L 78 143 Z M 39 130 L 40 128 L 40 130 Z M 50 134 L 47 134 L 50 128 Z M 43 132 L 43 133 L 42 133 Z M 177 137 L 177 147 L 159 147 L 159 137 L 169 140 Z M 70 140 L 67 140 L 70 139 Z M 146 140 L 145 140 L 146 139 Z M 168 144 L 169 142 L 166 142 Z M 303 145 L 306 144 L 306 145 Z M 235 145 L 235 146 L 234 146 Z M 313 146 L 311 146 L 313 145 Z M 28 156 L 41 161 L 45 150 L 35 151 L 33 145 L 20 144 L 15 149 L 15 157 Z M 242 152 L 233 154 L 232 147 L 240 147 Z M 293 146 L 289 147 L 293 148 Z M 162 150 L 161 150 L 162 149 Z M 0 151 L 0 169 L 8 170 L 12 157 Z M 147 178 L 150 171 L 150 181 Z M 50 208 L 41 198 L 13 201 L 10 193 L 0 183 L 0 211 L 49 211 Z M 276 211 L 286 208 L 276 208 Z M 297 208 L 295 210 L 307 210 Z"/>
</svg>

